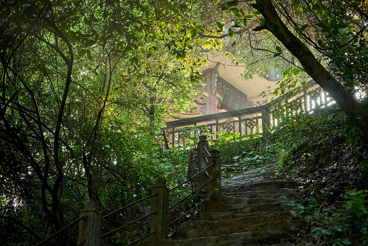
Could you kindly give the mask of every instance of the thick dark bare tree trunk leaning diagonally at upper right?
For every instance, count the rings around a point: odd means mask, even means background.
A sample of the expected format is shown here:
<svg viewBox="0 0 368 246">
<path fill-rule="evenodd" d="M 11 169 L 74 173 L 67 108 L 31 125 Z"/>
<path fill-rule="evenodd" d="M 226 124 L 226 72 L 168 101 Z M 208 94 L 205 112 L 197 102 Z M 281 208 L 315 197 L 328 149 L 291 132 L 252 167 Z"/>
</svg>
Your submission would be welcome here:
<svg viewBox="0 0 368 246">
<path fill-rule="evenodd" d="M 265 18 L 265 24 L 254 28 L 254 31 L 269 30 L 272 32 L 299 60 L 305 72 L 328 92 L 368 139 L 367 111 L 355 100 L 353 94 L 337 82 L 325 67 L 318 62 L 308 47 L 286 27 L 277 14 L 272 1 L 256 0 L 256 3 L 251 5 L 261 12 L 263 18 Z"/>
</svg>

